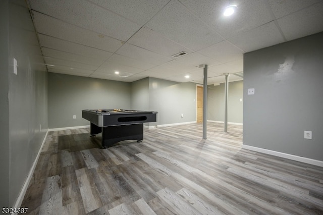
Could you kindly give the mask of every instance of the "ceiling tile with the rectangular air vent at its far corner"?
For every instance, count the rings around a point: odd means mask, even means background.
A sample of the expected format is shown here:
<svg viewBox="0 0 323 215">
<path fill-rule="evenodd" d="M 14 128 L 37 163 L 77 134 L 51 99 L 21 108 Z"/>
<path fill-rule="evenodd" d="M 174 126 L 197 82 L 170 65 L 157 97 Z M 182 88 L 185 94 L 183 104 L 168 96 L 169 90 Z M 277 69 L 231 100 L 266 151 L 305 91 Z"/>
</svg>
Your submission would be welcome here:
<svg viewBox="0 0 323 215">
<path fill-rule="evenodd" d="M 141 28 L 135 35 L 133 35 L 128 40 L 128 43 L 169 58 L 181 51 L 186 51 L 187 53 L 192 52 L 192 50 L 185 48 L 184 46 L 145 27 Z"/>
</svg>

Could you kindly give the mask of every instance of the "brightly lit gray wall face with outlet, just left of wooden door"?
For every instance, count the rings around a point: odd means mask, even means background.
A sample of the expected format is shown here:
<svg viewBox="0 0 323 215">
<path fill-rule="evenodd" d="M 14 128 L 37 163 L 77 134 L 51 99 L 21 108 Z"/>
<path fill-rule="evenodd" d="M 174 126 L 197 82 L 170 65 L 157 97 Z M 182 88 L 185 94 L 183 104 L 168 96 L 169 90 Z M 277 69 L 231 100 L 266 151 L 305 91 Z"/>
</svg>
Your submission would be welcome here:
<svg viewBox="0 0 323 215">
<path fill-rule="evenodd" d="M 149 78 L 149 92 L 149 109 L 158 112 L 157 125 L 196 121 L 195 83 Z"/>
</svg>

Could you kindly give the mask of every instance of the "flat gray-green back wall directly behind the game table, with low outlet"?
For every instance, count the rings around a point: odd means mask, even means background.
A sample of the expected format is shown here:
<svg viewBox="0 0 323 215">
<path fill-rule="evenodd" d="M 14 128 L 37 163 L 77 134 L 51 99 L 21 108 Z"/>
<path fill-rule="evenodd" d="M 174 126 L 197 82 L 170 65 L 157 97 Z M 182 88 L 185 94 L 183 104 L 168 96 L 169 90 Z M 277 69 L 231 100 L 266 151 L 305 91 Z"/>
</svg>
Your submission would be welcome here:
<svg viewBox="0 0 323 215">
<path fill-rule="evenodd" d="M 89 125 L 85 109 L 130 109 L 131 84 L 48 73 L 49 128 Z M 76 119 L 73 119 L 76 115 Z"/>
</svg>

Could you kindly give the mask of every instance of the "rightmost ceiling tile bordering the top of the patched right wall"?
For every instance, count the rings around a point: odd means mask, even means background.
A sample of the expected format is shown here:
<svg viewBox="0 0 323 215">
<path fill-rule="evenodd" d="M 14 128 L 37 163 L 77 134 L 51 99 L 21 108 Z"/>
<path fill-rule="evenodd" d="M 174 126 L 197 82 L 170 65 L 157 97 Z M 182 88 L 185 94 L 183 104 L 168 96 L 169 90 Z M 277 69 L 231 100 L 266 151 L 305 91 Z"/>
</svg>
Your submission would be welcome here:
<svg viewBox="0 0 323 215">
<path fill-rule="evenodd" d="M 306 17 L 306 19 L 304 19 Z M 287 40 L 323 31 L 323 1 L 277 20 Z"/>
</svg>

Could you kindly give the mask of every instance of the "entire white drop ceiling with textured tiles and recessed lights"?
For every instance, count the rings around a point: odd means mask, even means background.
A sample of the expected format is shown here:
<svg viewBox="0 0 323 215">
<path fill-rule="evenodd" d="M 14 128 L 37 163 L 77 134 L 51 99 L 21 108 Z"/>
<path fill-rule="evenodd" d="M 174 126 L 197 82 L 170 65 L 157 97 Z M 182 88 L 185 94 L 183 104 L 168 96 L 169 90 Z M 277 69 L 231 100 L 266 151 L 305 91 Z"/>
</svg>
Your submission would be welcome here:
<svg viewBox="0 0 323 215">
<path fill-rule="evenodd" d="M 243 79 L 243 54 L 323 31 L 322 0 L 28 0 L 48 72 L 133 82 Z M 224 17 L 228 5 L 237 12 Z M 173 58 L 181 51 L 187 55 Z M 116 75 L 115 71 L 120 74 Z M 236 75 L 235 75 L 236 74 Z M 190 75 L 190 78 L 185 78 Z"/>
</svg>

